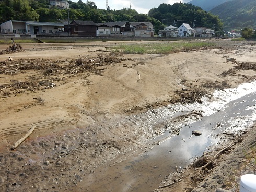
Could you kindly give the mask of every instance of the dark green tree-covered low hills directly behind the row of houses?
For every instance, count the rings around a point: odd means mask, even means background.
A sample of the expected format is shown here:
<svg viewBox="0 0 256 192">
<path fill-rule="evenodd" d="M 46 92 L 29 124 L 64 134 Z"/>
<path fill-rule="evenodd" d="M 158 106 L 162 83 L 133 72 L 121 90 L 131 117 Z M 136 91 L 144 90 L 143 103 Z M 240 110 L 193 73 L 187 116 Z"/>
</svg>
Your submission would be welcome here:
<svg viewBox="0 0 256 192">
<path fill-rule="evenodd" d="M 155 31 L 158 32 L 166 25 L 177 25 L 189 23 L 195 26 L 205 26 L 220 30 L 222 23 L 218 17 L 207 13 L 200 7 L 192 4 L 175 3 L 173 5 L 161 4 L 158 8 L 150 9 L 149 14 L 139 14 L 135 9 L 123 8 L 121 10 L 98 9 L 94 2 L 83 3 L 69 2 L 69 10 L 57 9 L 50 6 L 48 0 L 0 0 L 0 23 L 8 20 L 27 20 L 44 22 L 61 22 L 68 20 L 88 20 L 95 23 L 130 21 L 130 22 L 152 22 Z M 194 21 L 196 20 L 196 21 Z M 162 24 L 164 23 L 164 25 Z"/>
</svg>

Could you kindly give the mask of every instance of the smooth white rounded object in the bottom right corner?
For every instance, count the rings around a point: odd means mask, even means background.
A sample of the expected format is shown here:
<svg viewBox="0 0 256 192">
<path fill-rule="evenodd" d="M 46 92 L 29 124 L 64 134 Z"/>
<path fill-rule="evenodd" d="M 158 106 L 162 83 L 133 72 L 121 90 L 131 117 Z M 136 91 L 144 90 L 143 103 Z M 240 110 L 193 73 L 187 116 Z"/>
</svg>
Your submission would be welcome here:
<svg viewBox="0 0 256 192">
<path fill-rule="evenodd" d="M 256 175 L 241 176 L 240 192 L 256 192 Z"/>
</svg>

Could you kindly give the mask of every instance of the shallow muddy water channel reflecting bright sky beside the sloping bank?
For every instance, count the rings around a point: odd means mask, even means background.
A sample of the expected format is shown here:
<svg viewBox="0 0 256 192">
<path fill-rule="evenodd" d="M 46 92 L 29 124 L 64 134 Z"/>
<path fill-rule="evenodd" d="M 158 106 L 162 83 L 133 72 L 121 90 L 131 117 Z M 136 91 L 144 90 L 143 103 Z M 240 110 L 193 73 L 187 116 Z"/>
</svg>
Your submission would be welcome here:
<svg viewBox="0 0 256 192">
<path fill-rule="evenodd" d="M 134 152 L 120 163 L 99 167 L 71 190 L 143 192 L 158 188 L 166 175 L 182 169 L 204 151 L 225 141 L 225 137 L 219 137 L 223 135 L 220 133 L 239 133 L 249 128 L 256 119 L 255 96 L 256 82 L 253 82 L 237 89 L 216 91 L 213 98 L 205 98 L 201 105 L 172 106 L 172 110 L 168 110 L 171 113 L 158 109 L 157 114 L 161 115 L 152 118 L 152 124 L 195 110 L 200 111 L 203 117 L 199 121 L 190 119 L 179 122 L 175 128 L 168 125 L 176 133 L 163 131 L 160 136 L 148 141 L 146 148 Z M 194 130 L 202 135 L 192 135 Z"/>
</svg>

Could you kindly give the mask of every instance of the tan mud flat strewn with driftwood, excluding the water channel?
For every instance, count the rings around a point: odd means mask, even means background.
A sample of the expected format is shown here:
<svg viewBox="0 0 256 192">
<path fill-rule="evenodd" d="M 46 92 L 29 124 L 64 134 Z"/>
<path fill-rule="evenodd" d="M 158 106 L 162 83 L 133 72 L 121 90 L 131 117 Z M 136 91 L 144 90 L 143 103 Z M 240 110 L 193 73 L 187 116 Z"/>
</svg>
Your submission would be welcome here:
<svg viewBox="0 0 256 192">
<path fill-rule="evenodd" d="M 255 42 L 215 40 L 215 49 L 171 55 L 108 52 L 118 43 L 22 45 L 24 52 L 0 55 L 2 191 L 76 191 L 98 167 L 145 149 L 186 119 L 148 126 L 141 114 L 255 80 Z"/>
</svg>

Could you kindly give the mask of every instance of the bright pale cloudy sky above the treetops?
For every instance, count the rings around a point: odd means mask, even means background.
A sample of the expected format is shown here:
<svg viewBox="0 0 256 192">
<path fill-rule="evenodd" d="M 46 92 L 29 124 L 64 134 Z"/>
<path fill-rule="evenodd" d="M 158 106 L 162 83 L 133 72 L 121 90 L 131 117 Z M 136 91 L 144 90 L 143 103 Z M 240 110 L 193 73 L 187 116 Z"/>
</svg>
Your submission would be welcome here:
<svg viewBox="0 0 256 192">
<path fill-rule="evenodd" d="M 84 3 L 87 2 L 87 0 L 82 0 Z M 98 9 L 106 9 L 106 0 L 91 0 L 97 5 Z M 125 7 L 132 6 L 132 9 L 135 9 L 140 14 L 148 14 L 148 11 L 152 8 L 157 8 L 160 4 L 166 3 L 172 5 L 173 3 L 187 3 L 191 0 L 162 0 L 162 1 L 156 1 L 156 0 L 108 0 L 108 6 L 111 10 L 120 10 Z M 74 1 L 73 2 L 77 2 Z"/>
</svg>

